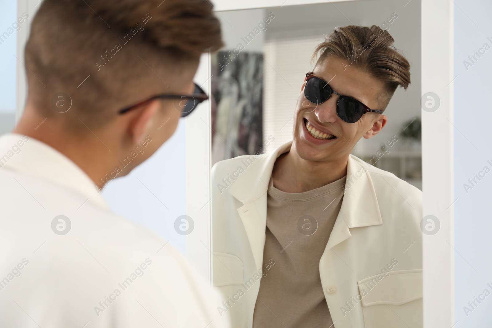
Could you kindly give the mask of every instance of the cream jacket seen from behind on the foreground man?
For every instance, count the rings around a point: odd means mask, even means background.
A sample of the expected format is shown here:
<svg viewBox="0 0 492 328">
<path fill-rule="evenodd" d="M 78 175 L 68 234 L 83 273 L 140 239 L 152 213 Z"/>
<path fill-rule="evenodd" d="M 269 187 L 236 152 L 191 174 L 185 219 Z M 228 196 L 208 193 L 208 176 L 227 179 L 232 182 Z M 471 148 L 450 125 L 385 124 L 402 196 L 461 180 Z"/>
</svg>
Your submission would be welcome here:
<svg viewBox="0 0 492 328">
<path fill-rule="evenodd" d="M 0 185 L 0 327 L 230 327 L 220 293 L 62 153 L 3 135 Z"/>
</svg>

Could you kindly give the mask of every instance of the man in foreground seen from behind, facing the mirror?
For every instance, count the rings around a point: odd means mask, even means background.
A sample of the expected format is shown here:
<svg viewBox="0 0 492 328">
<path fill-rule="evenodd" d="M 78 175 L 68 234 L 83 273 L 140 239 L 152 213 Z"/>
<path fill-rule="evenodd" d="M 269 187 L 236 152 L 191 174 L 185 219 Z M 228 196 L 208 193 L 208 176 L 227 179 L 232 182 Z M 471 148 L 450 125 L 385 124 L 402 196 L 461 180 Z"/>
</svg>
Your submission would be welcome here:
<svg viewBox="0 0 492 328">
<path fill-rule="evenodd" d="M 230 327 L 184 257 L 99 193 L 207 98 L 192 79 L 200 54 L 222 45 L 212 6 L 39 6 L 27 105 L 0 138 L 0 327 Z"/>
</svg>

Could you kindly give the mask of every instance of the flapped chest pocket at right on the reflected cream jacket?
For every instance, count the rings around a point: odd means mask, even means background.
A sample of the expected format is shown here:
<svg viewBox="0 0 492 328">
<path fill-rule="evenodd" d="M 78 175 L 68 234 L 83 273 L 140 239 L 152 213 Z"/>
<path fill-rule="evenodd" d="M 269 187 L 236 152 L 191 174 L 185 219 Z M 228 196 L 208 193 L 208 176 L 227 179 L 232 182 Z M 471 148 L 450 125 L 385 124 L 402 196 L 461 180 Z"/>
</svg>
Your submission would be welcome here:
<svg viewBox="0 0 492 328">
<path fill-rule="evenodd" d="M 422 269 L 378 274 L 358 285 L 365 328 L 423 327 Z"/>
</svg>

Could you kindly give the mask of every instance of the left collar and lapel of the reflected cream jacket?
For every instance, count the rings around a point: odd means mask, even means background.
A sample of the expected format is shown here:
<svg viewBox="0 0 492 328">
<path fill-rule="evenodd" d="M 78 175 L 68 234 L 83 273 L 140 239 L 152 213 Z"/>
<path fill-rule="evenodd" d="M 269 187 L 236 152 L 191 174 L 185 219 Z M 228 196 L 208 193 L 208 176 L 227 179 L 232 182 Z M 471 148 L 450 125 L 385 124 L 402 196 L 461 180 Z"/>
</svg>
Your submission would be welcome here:
<svg viewBox="0 0 492 328">
<path fill-rule="evenodd" d="M 234 181 L 229 193 L 244 205 L 238 210 L 253 253 L 256 269 L 263 266 L 265 227 L 267 222 L 267 190 L 277 157 L 288 151 L 292 141 L 271 153 L 251 155 L 241 163 L 245 171 Z"/>
</svg>

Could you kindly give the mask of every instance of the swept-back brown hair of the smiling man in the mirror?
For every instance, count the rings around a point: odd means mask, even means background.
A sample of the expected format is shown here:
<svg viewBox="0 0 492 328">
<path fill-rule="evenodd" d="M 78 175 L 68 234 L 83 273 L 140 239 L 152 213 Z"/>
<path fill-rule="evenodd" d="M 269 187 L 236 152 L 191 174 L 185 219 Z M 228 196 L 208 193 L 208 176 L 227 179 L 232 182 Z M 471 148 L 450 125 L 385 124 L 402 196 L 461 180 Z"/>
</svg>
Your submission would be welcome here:
<svg viewBox="0 0 492 328">
<path fill-rule="evenodd" d="M 394 42 L 388 31 L 376 25 L 337 27 L 325 35 L 312 59 L 319 54 L 316 65 L 328 56 L 347 60 L 348 64 L 383 81 L 386 88 L 378 94 L 377 101 L 384 110 L 398 86 L 406 90 L 410 84 L 410 64 L 393 46 Z"/>
</svg>

